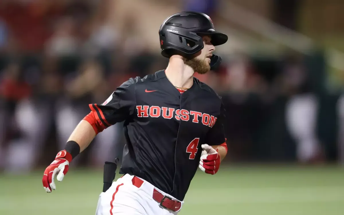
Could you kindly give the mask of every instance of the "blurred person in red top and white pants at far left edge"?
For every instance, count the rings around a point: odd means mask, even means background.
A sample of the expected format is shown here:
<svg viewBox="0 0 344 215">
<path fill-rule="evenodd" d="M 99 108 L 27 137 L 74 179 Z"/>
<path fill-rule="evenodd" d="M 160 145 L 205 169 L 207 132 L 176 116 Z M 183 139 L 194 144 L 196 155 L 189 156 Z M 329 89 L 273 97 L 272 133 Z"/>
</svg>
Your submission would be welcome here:
<svg viewBox="0 0 344 215">
<path fill-rule="evenodd" d="M 17 62 L 10 63 L 5 71 L 0 84 L 1 97 L 6 101 L 6 106 L 1 108 L 1 132 L 6 138 L 6 133 L 12 133 L 12 138 L 6 144 L 0 146 L 2 149 L 3 166 L 6 171 L 27 170 L 33 165 L 35 149 L 34 144 L 39 142 L 39 132 L 32 132 L 32 129 L 40 128 L 35 118 L 30 118 L 27 111 L 35 112 L 36 109 L 22 109 L 22 104 L 30 100 L 32 88 L 24 79 L 24 69 Z M 28 107 L 28 105 L 24 105 Z M 36 112 L 37 113 L 37 112 Z M 43 125 L 41 125 L 43 126 Z M 37 130 L 36 130 L 37 131 Z M 43 133 L 44 134 L 44 133 Z M 0 140 L 1 141 L 1 140 Z"/>
</svg>

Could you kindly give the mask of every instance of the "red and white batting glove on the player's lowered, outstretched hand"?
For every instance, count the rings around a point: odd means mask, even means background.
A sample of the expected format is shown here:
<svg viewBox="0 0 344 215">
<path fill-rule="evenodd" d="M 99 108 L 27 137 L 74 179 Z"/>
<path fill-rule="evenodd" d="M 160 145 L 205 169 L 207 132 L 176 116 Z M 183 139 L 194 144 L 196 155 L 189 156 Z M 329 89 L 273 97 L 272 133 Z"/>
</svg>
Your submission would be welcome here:
<svg viewBox="0 0 344 215">
<path fill-rule="evenodd" d="M 62 181 L 65 174 L 68 172 L 69 162 L 72 161 L 72 155 L 66 150 L 57 153 L 55 160 L 45 169 L 43 174 L 43 187 L 47 193 L 55 190 L 54 178 L 57 174 L 57 181 Z"/>
</svg>

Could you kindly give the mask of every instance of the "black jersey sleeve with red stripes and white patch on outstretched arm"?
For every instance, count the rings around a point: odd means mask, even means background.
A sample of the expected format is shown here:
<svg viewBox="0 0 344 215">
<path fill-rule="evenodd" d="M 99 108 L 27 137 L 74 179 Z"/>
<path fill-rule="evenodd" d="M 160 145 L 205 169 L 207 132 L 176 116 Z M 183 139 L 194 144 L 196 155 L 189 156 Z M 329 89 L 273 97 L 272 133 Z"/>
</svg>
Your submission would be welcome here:
<svg viewBox="0 0 344 215">
<path fill-rule="evenodd" d="M 136 103 L 135 83 L 136 79 L 130 78 L 117 87 L 103 104 L 89 104 L 90 114 L 100 128 L 106 129 L 133 114 Z"/>
</svg>

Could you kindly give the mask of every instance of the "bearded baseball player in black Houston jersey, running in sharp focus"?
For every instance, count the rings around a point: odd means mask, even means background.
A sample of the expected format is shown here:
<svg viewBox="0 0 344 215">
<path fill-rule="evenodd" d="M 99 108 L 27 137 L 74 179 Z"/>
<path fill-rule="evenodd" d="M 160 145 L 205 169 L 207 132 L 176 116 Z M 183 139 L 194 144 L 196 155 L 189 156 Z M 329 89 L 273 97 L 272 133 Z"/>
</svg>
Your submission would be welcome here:
<svg viewBox="0 0 344 215">
<path fill-rule="evenodd" d="M 131 78 L 77 125 L 65 149 L 46 168 L 43 186 L 56 189 L 68 164 L 104 129 L 124 121 L 121 178 L 102 192 L 96 215 L 177 214 L 197 168 L 215 174 L 227 154 L 224 107 L 212 88 L 193 75 L 221 63 L 215 46 L 228 37 L 208 15 L 180 12 L 159 30 L 166 69 Z"/>
</svg>

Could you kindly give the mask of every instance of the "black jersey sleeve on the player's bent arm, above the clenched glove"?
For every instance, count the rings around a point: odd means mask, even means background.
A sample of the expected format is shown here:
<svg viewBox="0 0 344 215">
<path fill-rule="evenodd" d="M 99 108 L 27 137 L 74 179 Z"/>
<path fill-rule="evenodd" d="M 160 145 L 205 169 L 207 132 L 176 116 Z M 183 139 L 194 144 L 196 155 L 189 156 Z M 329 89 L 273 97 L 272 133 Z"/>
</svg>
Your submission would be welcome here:
<svg viewBox="0 0 344 215">
<path fill-rule="evenodd" d="M 210 146 L 217 146 L 226 143 L 225 137 L 225 109 L 221 103 L 220 114 L 215 118 L 215 123 L 213 127 L 208 131 L 206 135 L 206 143 Z"/>
</svg>

